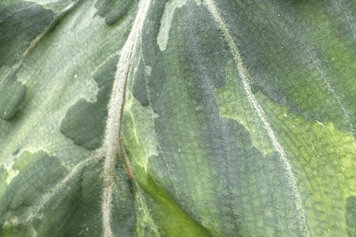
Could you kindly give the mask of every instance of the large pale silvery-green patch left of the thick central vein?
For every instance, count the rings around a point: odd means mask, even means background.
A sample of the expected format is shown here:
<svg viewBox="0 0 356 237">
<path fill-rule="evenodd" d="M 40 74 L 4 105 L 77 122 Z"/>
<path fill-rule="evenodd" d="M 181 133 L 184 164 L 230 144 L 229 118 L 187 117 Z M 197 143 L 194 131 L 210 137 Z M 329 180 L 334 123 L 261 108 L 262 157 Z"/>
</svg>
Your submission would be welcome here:
<svg viewBox="0 0 356 237">
<path fill-rule="evenodd" d="M 0 122 L 0 162 L 17 148 L 68 157 L 61 160 L 67 168 L 88 157 L 87 149 L 59 131 L 61 121 L 78 99 L 96 101 L 95 70 L 120 50 L 135 17 L 135 11 L 130 11 L 121 24 L 108 26 L 103 18 L 93 18 L 94 2 L 74 7 L 27 55 L 17 72 L 17 80 L 26 84 L 27 92 L 20 104 L 21 116 L 12 123 Z"/>
</svg>

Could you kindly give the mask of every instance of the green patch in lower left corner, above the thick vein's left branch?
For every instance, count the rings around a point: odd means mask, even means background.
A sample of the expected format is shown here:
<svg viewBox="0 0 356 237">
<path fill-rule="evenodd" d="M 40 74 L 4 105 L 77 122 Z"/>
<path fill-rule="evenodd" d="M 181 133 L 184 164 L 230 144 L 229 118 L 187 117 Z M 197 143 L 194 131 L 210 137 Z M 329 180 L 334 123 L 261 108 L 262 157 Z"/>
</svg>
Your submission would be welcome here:
<svg viewBox="0 0 356 237">
<path fill-rule="evenodd" d="M 38 200 L 67 173 L 58 157 L 48 156 L 42 150 L 33 154 L 23 152 L 12 169 L 20 173 L 12 179 L 1 200 L 0 221 L 3 233 L 22 230 L 23 222 L 30 214 L 30 207 L 36 206 Z M 9 220 L 17 221 L 12 225 Z"/>
</svg>

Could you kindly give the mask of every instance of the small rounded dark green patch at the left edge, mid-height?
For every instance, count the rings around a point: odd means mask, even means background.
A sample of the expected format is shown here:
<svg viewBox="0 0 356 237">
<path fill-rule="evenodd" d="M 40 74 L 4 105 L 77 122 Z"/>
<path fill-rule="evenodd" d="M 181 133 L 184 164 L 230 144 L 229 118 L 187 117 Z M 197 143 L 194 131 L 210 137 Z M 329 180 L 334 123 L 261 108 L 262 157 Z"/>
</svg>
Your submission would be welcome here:
<svg viewBox="0 0 356 237">
<path fill-rule="evenodd" d="M 16 75 L 0 82 L 0 118 L 10 121 L 19 111 L 20 103 L 26 96 L 26 85 L 16 80 Z"/>
</svg>

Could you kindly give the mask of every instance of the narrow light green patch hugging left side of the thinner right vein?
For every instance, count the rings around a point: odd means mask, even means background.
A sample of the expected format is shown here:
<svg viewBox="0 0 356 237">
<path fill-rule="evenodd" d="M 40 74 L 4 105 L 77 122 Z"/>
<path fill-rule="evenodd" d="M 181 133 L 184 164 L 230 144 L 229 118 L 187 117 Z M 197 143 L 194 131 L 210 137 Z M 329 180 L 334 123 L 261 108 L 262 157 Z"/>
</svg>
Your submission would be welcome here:
<svg viewBox="0 0 356 237">
<path fill-rule="evenodd" d="M 220 115 L 235 119 L 244 125 L 251 134 L 253 145 L 263 155 L 270 154 L 275 150 L 268 139 L 266 128 L 247 98 L 247 93 L 233 59 L 226 65 L 225 86 L 215 88 L 215 97 L 219 104 Z"/>
</svg>

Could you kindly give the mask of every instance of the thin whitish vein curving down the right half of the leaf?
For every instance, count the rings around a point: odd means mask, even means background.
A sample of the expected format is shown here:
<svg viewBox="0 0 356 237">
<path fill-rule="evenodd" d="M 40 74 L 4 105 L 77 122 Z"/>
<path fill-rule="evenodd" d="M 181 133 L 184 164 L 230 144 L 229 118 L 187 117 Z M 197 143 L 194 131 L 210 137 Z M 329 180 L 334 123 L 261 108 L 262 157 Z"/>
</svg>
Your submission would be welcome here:
<svg viewBox="0 0 356 237">
<path fill-rule="evenodd" d="M 297 208 L 298 215 L 299 215 L 299 228 L 301 231 L 304 232 L 303 233 L 304 236 L 307 236 L 307 232 L 305 231 L 306 230 L 305 215 L 304 215 L 304 210 L 302 208 L 302 203 L 300 201 L 301 200 L 300 194 L 299 194 L 299 191 L 297 188 L 297 184 L 295 182 L 294 174 L 293 174 L 292 169 L 289 165 L 289 162 L 286 158 L 286 154 L 284 153 L 283 147 L 277 141 L 276 136 L 274 136 L 273 130 L 266 120 L 266 116 L 265 116 L 263 109 L 258 104 L 255 96 L 252 93 L 250 84 L 248 83 L 248 78 L 250 78 L 250 74 L 249 74 L 246 66 L 243 63 L 240 51 L 237 48 L 237 45 L 236 45 L 234 39 L 232 38 L 232 36 L 229 32 L 229 29 L 226 27 L 223 19 L 221 18 L 218 10 L 216 9 L 216 6 L 213 3 L 213 1 L 205 0 L 204 3 L 206 5 L 206 7 L 209 9 L 209 11 L 210 11 L 211 15 L 213 16 L 215 22 L 217 23 L 218 27 L 223 32 L 223 36 L 225 37 L 225 40 L 229 44 L 230 51 L 231 51 L 232 55 L 234 56 L 237 70 L 239 71 L 239 75 L 244 83 L 244 89 L 246 91 L 246 94 L 247 94 L 248 100 L 250 101 L 251 106 L 253 108 L 255 108 L 255 110 L 258 114 L 258 117 L 262 120 L 262 123 L 263 123 L 265 129 L 267 130 L 269 139 L 271 139 L 273 146 L 281 154 L 284 168 L 287 171 L 289 185 L 292 188 L 294 198 L 296 199 L 296 208 Z"/>
</svg>

